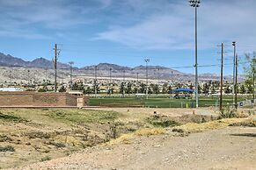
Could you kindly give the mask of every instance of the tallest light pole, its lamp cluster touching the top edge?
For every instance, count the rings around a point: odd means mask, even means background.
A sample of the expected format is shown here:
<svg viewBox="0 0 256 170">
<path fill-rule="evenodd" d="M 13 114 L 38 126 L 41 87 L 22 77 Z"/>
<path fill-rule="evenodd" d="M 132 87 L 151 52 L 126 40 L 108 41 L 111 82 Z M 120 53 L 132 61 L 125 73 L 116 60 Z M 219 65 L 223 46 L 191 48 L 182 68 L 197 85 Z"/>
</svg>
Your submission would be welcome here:
<svg viewBox="0 0 256 170">
<path fill-rule="evenodd" d="M 200 0 L 189 0 L 188 1 L 191 7 L 194 7 L 194 14 L 195 14 L 195 19 L 194 19 L 194 48 L 195 48 L 195 53 L 194 53 L 194 92 L 195 92 L 195 102 L 196 102 L 196 108 L 198 108 L 198 72 L 197 72 L 197 8 L 200 6 L 201 2 Z"/>
</svg>

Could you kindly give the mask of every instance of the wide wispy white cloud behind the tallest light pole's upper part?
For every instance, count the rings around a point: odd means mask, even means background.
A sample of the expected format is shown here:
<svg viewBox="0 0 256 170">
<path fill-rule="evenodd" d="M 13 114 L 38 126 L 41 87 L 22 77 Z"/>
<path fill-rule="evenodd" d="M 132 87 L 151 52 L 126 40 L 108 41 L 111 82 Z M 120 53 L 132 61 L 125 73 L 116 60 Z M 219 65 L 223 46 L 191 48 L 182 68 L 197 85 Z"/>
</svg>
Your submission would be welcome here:
<svg viewBox="0 0 256 170">
<path fill-rule="evenodd" d="M 143 49 L 191 49 L 194 46 L 194 9 L 187 2 L 171 4 L 168 1 L 128 0 L 137 13 L 146 14 L 134 25 L 111 25 L 100 32 L 97 39 L 119 42 L 126 46 Z M 174 2 L 174 1 L 173 1 Z M 136 4 L 137 3 L 137 4 Z M 147 8 L 146 8 L 147 7 Z M 252 45 L 256 37 L 256 2 L 247 0 L 202 1 L 198 9 L 199 45 L 209 48 L 221 42 L 238 41 L 238 44 Z M 122 10 L 122 9 L 121 9 Z M 135 14 L 133 14 L 135 15 Z M 127 16 L 127 14 L 125 14 Z"/>
</svg>

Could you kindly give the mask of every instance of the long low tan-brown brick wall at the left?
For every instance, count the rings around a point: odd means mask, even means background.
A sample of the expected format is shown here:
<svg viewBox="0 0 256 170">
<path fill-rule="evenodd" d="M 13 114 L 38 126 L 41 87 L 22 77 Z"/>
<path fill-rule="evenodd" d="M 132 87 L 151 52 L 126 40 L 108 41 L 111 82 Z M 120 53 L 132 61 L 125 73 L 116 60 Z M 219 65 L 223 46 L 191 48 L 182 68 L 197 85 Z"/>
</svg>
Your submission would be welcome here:
<svg viewBox="0 0 256 170">
<path fill-rule="evenodd" d="M 77 96 L 68 93 L 0 92 L 0 106 L 77 106 Z"/>
</svg>

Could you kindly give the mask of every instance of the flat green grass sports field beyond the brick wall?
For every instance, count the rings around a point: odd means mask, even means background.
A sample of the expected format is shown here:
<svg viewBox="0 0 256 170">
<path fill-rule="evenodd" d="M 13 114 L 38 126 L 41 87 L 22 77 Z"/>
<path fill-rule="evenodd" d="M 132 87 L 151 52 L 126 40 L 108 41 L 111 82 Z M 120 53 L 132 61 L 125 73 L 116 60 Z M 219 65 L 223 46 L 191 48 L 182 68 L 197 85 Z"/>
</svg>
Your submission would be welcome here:
<svg viewBox="0 0 256 170">
<path fill-rule="evenodd" d="M 199 106 L 208 107 L 219 103 L 218 97 L 200 97 Z M 238 98 L 238 102 L 243 98 Z M 223 105 L 231 104 L 232 97 L 223 97 Z M 154 108 L 189 108 L 195 107 L 194 99 L 173 99 L 173 98 L 91 98 L 91 106 L 109 106 L 109 107 L 154 107 Z"/>
</svg>

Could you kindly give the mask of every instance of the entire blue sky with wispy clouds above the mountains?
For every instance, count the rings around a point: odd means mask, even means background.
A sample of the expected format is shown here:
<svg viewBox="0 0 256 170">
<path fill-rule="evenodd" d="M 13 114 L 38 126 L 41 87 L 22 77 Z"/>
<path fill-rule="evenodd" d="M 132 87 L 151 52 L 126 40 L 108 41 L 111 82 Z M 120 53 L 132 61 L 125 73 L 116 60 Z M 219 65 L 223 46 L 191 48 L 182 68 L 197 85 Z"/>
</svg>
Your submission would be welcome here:
<svg viewBox="0 0 256 170">
<path fill-rule="evenodd" d="M 201 0 L 199 65 L 217 65 L 225 45 L 224 74 L 232 73 L 232 41 L 238 55 L 256 51 L 255 0 Z M 59 60 L 77 67 L 109 62 L 129 67 L 174 67 L 194 73 L 194 8 L 187 0 L 0 0 L 0 52 L 24 60 Z M 242 65 L 239 69 L 242 72 Z M 199 73 L 219 74 L 219 67 Z"/>
</svg>

